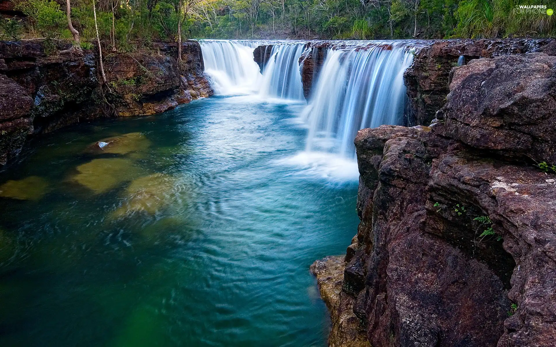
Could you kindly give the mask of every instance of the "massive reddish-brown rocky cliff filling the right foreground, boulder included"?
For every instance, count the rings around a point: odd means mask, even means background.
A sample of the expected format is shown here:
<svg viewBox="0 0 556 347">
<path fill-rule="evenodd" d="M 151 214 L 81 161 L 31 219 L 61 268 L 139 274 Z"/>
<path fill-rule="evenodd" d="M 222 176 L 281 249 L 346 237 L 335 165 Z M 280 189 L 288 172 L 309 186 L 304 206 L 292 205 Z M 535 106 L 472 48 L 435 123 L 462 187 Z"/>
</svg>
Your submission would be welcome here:
<svg viewBox="0 0 556 347">
<path fill-rule="evenodd" d="M 359 131 L 358 233 L 312 266 L 330 345 L 556 345 L 555 88 L 556 57 L 475 59 L 431 127 Z"/>
</svg>

